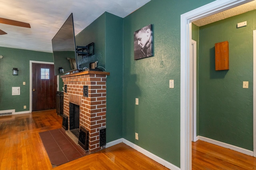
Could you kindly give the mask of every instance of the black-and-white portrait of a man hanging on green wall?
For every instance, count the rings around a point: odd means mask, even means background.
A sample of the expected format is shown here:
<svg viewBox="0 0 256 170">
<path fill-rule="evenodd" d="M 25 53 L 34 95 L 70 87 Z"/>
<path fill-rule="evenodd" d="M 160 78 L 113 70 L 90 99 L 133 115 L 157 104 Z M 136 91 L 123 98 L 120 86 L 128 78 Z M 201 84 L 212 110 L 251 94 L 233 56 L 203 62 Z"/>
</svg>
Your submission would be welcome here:
<svg viewBox="0 0 256 170">
<path fill-rule="evenodd" d="M 134 60 L 153 56 L 152 24 L 134 32 Z"/>
</svg>

